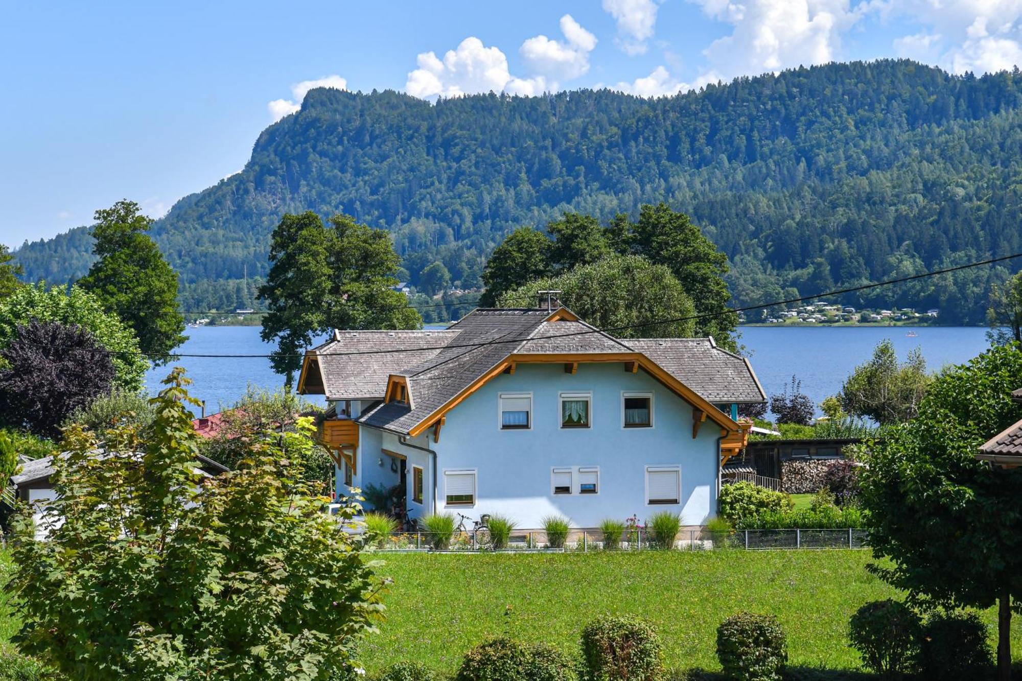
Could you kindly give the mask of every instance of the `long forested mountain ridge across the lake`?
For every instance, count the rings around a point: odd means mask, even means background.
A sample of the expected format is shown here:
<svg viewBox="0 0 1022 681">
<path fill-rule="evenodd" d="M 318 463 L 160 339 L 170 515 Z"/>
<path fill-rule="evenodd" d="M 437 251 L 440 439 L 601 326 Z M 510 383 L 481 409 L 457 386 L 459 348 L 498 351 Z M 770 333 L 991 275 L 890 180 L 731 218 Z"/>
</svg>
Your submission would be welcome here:
<svg viewBox="0 0 1022 681">
<path fill-rule="evenodd" d="M 260 135 L 242 172 L 181 199 L 152 234 L 187 305 L 222 308 L 265 276 L 286 212 L 352 214 L 392 232 L 413 283 L 440 261 L 472 286 L 515 227 L 665 200 L 727 253 L 735 302 L 755 304 L 1022 251 L 1020 124 L 1017 70 L 960 78 L 905 60 L 653 100 L 318 89 Z M 16 257 L 28 278 L 60 281 L 87 269 L 89 239 L 73 231 Z M 847 302 L 979 322 L 990 281 L 1020 265 Z"/>
</svg>

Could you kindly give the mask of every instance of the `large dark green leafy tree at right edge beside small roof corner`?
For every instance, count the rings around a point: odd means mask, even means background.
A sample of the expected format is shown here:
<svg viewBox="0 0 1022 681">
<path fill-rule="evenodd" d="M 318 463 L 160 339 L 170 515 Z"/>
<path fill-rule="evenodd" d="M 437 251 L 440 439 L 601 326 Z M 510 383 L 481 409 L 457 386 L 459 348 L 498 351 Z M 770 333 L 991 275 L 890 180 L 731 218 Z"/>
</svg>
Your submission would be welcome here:
<svg viewBox="0 0 1022 681">
<path fill-rule="evenodd" d="M 917 599 L 998 604 L 997 665 L 1008 679 L 1011 617 L 1022 598 L 1022 468 L 978 461 L 979 446 L 1022 418 L 1022 352 L 1001 346 L 942 371 L 912 421 L 872 444 L 861 469 L 871 570 Z M 1014 602 L 1013 602 L 1014 601 Z"/>
</svg>

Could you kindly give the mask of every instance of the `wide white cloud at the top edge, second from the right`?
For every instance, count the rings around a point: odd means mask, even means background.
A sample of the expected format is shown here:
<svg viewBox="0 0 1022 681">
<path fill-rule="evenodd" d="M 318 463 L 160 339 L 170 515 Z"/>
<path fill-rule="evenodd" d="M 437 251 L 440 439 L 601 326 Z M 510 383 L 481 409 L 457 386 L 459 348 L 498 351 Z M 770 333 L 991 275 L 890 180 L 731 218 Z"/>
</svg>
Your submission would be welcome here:
<svg viewBox="0 0 1022 681">
<path fill-rule="evenodd" d="M 873 6 L 849 0 L 689 0 L 734 31 L 704 52 L 725 78 L 756 75 L 837 58 L 841 35 Z"/>
</svg>

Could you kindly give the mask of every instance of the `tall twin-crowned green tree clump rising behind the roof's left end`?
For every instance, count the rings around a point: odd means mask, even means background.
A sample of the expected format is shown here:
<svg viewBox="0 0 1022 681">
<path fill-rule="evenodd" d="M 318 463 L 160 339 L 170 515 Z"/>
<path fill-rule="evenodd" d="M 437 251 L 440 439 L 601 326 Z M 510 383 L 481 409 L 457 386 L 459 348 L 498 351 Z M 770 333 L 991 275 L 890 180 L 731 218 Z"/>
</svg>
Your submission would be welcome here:
<svg viewBox="0 0 1022 681">
<path fill-rule="evenodd" d="M 418 328 L 419 313 L 392 290 L 401 260 L 390 235 L 346 215 L 324 226 L 309 211 L 286 215 L 273 232 L 273 267 L 260 288 L 270 313 L 264 340 L 277 343 L 270 362 L 290 387 L 303 353 L 317 334 L 334 328 Z"/>
</svg>

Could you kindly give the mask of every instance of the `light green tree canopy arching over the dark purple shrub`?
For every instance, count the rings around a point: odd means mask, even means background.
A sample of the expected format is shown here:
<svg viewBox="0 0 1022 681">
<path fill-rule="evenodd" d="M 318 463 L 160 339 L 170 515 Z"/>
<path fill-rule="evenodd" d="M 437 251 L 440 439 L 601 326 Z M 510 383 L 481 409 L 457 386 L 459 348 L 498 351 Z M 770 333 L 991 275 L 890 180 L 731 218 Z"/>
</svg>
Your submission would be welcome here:
<svg viewBox="0 0 1022 681">
<path fill-rule="evenodd" d="M 99 347 L 110 353 L 115 371 L 114 383 L 138 391 L 149 363 L 139 353 L 138 339 L 121 319 L 103 310 L 99 300 L 78 286 L 30 284 L 17 288 L 0 301 L 0 348 L 14 338 L 18 325 L 32 320 L 81 326 Z"/>
</svg>

